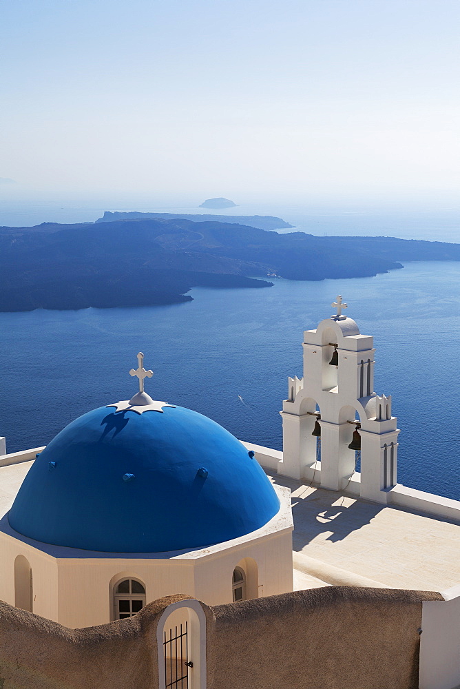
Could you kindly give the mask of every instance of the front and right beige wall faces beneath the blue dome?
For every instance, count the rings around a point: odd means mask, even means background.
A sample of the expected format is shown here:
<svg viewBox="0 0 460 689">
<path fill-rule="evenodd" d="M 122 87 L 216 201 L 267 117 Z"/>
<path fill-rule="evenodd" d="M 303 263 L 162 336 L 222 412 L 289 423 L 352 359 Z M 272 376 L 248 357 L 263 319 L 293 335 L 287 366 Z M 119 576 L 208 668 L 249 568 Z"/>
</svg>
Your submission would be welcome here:
<svg viewBox="0 0 460 689">
<path fill-rule="evenodd" d="M 241 566 L 249 597 L 293 589 L 291 531 L 237 543 L 201 557 L 162 559 L 59 559 L 59 612 L 51 617 L 70 627 L 105 624 L 114 619 L 114 586 L 121 579 L 140 579 L 147 603 L 182 591 L 209 605 L 231 603 L 232 575 Z M 197 551 L 203 553 L 203 551 Z M 187 555 L 193 556 L 193 551 Z"/>
</svg>

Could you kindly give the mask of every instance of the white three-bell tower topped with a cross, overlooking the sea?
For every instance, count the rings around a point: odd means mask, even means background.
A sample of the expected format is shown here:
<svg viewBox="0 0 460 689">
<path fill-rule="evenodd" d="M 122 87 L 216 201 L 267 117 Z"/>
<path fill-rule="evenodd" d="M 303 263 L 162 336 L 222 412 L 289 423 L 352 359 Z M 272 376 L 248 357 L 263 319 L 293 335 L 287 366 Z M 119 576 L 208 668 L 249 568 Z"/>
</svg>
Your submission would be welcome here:
<svg viewBox="0 0 460 689">
<path fill-rule="evenodd" d="M 374 392 L 373 338 L 361 335 L 354 320 L 342 314 L 342 297 L 334 316 L 304 332 L 304 377 L 289 378 L 283 420 L 283 460 L 278 473 L 314 480 L 322 488 L 346 488 L 355 471 L 353 431 L 361 440 L 359 494 L 389 502 L 397 477 L 397 420 L 391 398 Z M 332 364 L 331 364 L 332 362 Z M 321 429 L 321 452 L 312 435 Z M 317 461 L 318 460 L 318 461 Z M 320 461 L 319 461 L 320 460 Z M 355 484 L 359 475 L 355 475 Z"/>
</svg>

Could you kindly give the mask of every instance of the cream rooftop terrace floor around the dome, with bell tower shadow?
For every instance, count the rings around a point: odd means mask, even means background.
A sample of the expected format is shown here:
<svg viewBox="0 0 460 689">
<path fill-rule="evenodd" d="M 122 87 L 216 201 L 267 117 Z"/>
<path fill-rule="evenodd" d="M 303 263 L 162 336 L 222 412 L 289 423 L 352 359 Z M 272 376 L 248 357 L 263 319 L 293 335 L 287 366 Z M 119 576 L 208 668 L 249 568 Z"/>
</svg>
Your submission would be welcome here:
<svg viewBox="0 0 460 689">
<path fill-rule="evenodd" d="M 0 458 L 0 518 L 41 449 Z M 443 592 L 460 584 L 458 522 L 266 473 L 291 490 L 295 589 L 335 584 Z"/>
</svg>

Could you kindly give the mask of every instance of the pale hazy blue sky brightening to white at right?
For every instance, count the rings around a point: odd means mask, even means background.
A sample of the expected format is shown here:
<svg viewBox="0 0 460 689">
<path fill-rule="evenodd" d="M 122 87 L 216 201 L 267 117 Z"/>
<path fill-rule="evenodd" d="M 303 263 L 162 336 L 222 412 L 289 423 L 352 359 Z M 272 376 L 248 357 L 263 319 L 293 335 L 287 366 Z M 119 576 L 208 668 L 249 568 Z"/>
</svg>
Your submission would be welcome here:
<svg viewBox="0 0 460 689">
<path fill-rule="evenodd" d="M 1 0 L 1 195 L 432 198 L 459 0 Z"/>
</svg>

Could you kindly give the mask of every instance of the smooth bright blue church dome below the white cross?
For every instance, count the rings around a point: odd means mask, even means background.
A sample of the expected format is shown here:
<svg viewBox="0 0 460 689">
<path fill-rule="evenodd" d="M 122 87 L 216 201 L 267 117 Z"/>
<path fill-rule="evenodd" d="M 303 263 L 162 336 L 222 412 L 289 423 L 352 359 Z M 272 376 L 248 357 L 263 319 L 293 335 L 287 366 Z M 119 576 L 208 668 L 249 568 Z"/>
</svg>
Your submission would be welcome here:
<svg viewBox="0 0 460 689">
<path fill-rule="evenodd" d="M 245 535 L 279 507 L 257 460 L 206 416 L 101 407 L 40 453 L 8 519 L 43 543 L 158 553 Z"/>
</svg>

